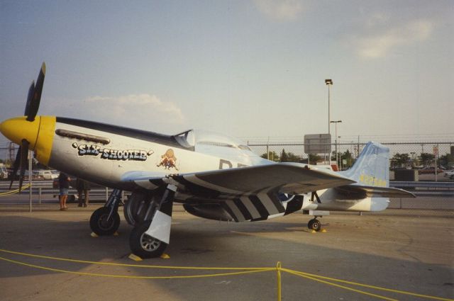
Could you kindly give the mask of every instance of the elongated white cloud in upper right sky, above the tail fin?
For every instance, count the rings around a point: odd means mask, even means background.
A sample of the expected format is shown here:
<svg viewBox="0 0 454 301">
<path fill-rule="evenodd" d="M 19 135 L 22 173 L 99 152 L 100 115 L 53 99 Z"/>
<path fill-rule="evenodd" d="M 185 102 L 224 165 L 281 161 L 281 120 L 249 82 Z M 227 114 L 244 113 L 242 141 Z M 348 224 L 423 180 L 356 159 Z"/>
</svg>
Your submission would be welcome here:
<svg viewBox="0 0 454 301">
<path fill-rule="evenodd" d="M 372 31 L 375 26 L 382 25 L 384 16 L 374 16 L 367 21 L 367 27 Z M 395 47 L 411 45 L 426 40 L 432 33 L 434 25 L 431 21 L 409 21 L 403 25 L 383 30 L 378 28 L 376 33 L 363 35 L 355 40 L 358 55 L 363 58 L 379 58 L 386 56 Z"/>
</svg>

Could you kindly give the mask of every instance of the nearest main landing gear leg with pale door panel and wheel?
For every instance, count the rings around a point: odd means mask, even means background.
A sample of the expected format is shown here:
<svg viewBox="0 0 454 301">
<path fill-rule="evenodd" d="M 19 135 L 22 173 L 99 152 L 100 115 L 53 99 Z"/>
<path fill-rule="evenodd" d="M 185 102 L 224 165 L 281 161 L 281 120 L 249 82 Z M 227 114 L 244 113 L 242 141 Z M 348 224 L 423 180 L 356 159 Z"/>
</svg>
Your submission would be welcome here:
<svg viewBox="0 0 454 301">
<path fill-rule="evenodd" d="M 143 222 L 135 225 L 129 236 L 131 251 L 142 258 L 159 257 L 170 240 L 172 206 L 176 186 L 168 185 L 153 195 Z M 135 220 L 135 222 L 139 222 Z"/>
</svg>

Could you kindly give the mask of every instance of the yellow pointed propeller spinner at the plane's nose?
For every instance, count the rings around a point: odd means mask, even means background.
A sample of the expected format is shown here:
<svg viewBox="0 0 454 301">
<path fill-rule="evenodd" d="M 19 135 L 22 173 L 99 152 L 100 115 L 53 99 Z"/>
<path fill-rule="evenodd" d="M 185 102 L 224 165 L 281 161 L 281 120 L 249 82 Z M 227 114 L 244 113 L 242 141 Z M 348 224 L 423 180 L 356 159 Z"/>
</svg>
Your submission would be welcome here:
<svg viewBox="0 0 454 301">
<path fill-rule="evenodd" d="M 4 120 L 0 123 L 0 132 L 12 142 L 21 145 L 22 140 L 26 139 L 31 150 L 35 149 L 38 132 L 40 129 L 40 117 L 36 116 L 35 120 L 27 121 L 26 116 L 15 117 Z"/>
</svg>

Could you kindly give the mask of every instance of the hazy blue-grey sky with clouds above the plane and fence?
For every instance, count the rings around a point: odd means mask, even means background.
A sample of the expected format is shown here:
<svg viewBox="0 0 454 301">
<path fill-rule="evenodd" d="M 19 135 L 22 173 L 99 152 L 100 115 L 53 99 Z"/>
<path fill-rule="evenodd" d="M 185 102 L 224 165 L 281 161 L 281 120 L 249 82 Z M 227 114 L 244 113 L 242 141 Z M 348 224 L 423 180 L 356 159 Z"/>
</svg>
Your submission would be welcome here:
<svg viewBox="0 0 454 301">
<path fill-rule="evenodd" d="M 340 140 L 454 141 L 453 54 L 449 0 L 0 0 L 0 120 L 45 62 L 39 115 L 302 140 L 332 79 Z"/>
</svg>

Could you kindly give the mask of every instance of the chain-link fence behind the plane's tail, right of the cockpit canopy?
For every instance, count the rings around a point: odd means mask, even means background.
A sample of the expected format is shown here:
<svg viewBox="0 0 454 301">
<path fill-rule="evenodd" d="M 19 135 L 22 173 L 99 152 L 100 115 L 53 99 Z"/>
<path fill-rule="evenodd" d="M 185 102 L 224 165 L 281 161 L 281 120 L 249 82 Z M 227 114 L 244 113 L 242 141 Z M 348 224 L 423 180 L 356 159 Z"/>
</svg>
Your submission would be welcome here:
<svg viewBox="0 0 454 301">
<path fill-rule="evenodd" d="M 331 164 L 336 164 L 337 149 L 338 168 L 341 170 L 350 168 L 365 144 L 364 142 L 331 144 Z M 445 176 L 449 170 L 454 169 L 454 142 L 382 142 L 382 144 L 389 147 L 389 179 L 399 180 L 394 177 L 398 170 L 412 169 L 416 177 L 414 181 L 419 181 L 413 182 L 414 187 L 402 187 L 416 193 L 417 198 L 392 198 L 389 208 L 402 209 L 402 212 L 410 215 L 414 209 L 423 209 L 419 214 L 426 210 L 454 210 L 453 187 L 438 187 L 440 184 L 436 183 L 436 181 L 454 182 L 454 177 Z M 306 154 L 305 144 L 301 142 L 248 142 L 248 146 L 256 154 L 272 161 L 308 163 L 309 160 L 309 164 L 329 164 L 328 154 Z M 421 187 L 419 184 L 427 181 L 433 185 L 429 183 L 427 187 Z M 394 186 L 398 183 L 392 182 Z"/>
</svg>

